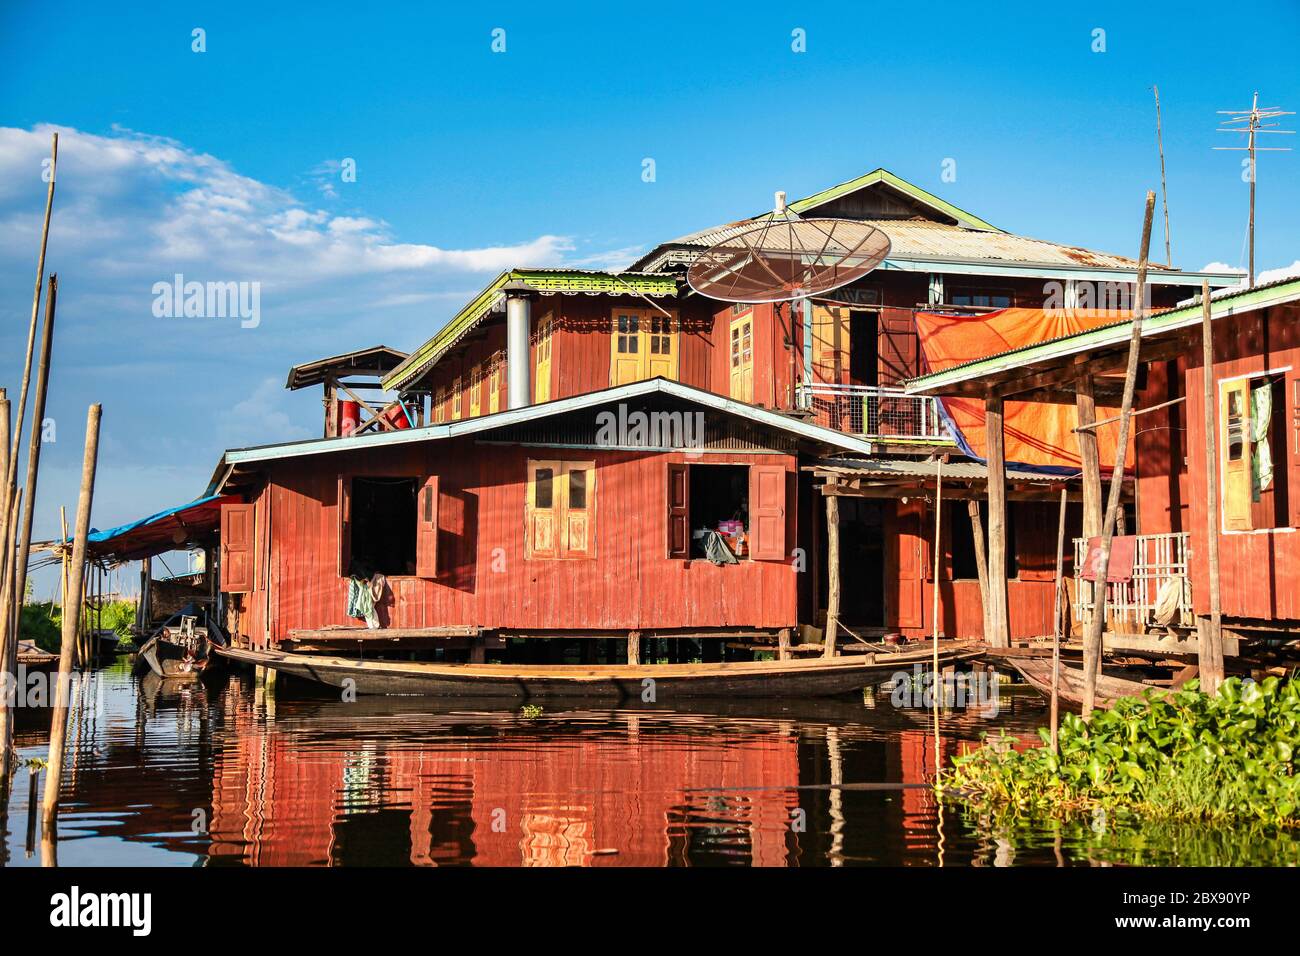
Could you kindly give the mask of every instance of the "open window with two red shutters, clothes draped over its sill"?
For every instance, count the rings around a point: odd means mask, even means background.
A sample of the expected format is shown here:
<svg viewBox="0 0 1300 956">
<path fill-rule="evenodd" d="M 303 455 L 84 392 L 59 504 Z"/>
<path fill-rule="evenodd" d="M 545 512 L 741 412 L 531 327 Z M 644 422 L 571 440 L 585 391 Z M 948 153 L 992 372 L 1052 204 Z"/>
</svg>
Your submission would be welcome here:
<svg viewBox="0 0 1300 956">
<path fill-rule="evenodd" d="M 707 558 L 710 541 L 737 558 L 785 558 L 786 472 L 776 464 L 677 464 L 667 472 L 670 558 Z"/>
</svg>

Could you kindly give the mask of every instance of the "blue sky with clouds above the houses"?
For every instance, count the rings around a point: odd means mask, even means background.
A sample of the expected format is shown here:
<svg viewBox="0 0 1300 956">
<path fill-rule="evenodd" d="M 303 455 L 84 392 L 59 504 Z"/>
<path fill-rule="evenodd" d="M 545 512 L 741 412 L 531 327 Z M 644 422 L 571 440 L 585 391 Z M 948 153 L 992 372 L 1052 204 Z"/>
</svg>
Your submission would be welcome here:
<svg viewBox="0 0 1300 956">
<path fill-rule="evenodd" d="M 806 52 L 792 51 L 796 29 Z M 289 365 L 411 349 L 500 268 L 621 265 L 760 212 L 775 189 L 793 198 L 883 165 L 1005 229 L 1135 254 L 1143 194 L 1158 187 L 1152 83 L 1174 263 L 1244 265 L 1242 155 L 1210 148 L 1231 142 L 1214 111 L 1254 90 L 1300 105 L 1297 35 L 1295 0 L 6 4 L 10 394 L 40 157 L 61 131 L 57 440 L 38 533 L 74 503 L 91 401 L 104 402 L 95 524 L 108 527 L 198 494 L 226 446 L 315 434 L 317 395 L 283 390 Z M 956 182 L 940 179 L 946 159 Z M 1262 155 L 1260 269 L 1300 259 L 1297 164 Z M 260 324 L 155 317 L 152 284 L 176 272 L 260 282 Z"/>
</svg>

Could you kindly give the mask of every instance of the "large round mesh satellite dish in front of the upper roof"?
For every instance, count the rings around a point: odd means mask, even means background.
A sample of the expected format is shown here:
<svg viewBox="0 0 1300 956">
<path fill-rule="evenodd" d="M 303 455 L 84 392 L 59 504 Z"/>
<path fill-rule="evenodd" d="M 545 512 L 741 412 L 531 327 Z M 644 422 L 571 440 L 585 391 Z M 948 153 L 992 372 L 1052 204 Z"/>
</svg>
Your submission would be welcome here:
<svg viewBox="0 0 1300 956">
<path fill-rule="evenodd" d="M 701 295 L 723 302 L 789 302 L 862 278 L 889 255 L 889 237 L 868 222 L 802 219 L 776 208 L 705 250 L 686 272 Z"/>
</svg>

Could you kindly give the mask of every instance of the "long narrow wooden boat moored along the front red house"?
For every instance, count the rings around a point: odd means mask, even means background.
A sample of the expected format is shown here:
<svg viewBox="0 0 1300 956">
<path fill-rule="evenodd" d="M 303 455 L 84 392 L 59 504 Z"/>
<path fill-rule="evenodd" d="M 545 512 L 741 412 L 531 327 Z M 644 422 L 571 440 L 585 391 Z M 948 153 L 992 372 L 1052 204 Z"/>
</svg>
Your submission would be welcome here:
<svg viewBox="0 0 1300 956">
<path fill-rule="evenodd" d="M 269 667 L 358 693 L 424 697 L 641 697 L 654 682 L 659 701 L 685 697 L 833 697 L 926 667 L 931 650 L 811 661 L 653 665 L 504 665 L 360 661 L 328 654 L 214 646 L 231 661 Z M 972 645 L 945 648 L 940 665 L 974 659 Z"/>
</svg>

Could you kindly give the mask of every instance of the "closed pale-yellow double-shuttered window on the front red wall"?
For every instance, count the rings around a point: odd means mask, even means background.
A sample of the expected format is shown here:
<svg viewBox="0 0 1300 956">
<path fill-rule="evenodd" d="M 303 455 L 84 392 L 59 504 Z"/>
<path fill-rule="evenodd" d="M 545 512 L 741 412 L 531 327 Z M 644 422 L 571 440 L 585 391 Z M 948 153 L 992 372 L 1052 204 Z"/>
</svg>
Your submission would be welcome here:
<svg viewBox="0 0 1300 956">
<path fill-rule="evenodd" d="M 595 462 L 529 459 L 525 493 L 528 558 L 595 554 Z"/>
</svg>

